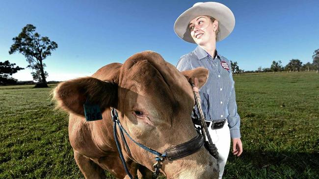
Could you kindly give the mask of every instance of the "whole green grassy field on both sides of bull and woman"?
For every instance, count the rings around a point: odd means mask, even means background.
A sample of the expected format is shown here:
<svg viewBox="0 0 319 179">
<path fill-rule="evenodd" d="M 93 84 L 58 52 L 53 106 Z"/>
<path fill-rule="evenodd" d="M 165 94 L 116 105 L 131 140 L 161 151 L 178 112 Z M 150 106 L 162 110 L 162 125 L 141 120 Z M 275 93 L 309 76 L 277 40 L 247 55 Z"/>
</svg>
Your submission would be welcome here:
<svg viewBox="0 0 319 179">
<path fill-rule="evenodd" d="M 319 178 L 319 74 L 234 75 L 244 152 L 225 179 Z M 47 89 L 0 87 L 0 179 L 83 178 Z M 111 176 L 108 176 L 111 179 Z"/>
</svg>

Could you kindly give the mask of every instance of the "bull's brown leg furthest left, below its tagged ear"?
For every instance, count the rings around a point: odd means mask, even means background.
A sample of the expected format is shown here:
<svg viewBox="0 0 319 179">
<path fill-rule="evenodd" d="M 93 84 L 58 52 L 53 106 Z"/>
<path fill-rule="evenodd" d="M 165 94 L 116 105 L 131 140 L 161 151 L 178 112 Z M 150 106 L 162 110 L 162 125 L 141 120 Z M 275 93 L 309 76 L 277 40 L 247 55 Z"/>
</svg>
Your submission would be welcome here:
<svg viewBox="0 0 319 179">
<path fill-rule="evenodd" d="M 77 151 L 74 151 L 74 158 L 85 179 L 106 178 L 103 169 L 98 164 L 94 163 L 90 158 L 81 155 Z"/>
</svg>

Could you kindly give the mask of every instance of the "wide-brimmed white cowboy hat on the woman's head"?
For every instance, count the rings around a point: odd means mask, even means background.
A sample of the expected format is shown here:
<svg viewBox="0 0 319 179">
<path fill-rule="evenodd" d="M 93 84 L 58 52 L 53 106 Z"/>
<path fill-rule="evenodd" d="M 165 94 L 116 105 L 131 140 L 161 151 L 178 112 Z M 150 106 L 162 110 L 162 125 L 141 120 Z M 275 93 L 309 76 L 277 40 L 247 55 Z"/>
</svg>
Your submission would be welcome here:
<svg viewBox="0 0 319 179">
<path fill-rule="evenodd" d="M 219 32 L 216 41 L 225 39 L 235 27 L 235 16 L 224 4 L 218 2 L 197 2 L 193 7 L 181 14 L 174 24 L 175 33 L 186 42 L 196 44 L 190 36 L 188 24 L 198 16 L 211 16 L 218 21 Z"/>
</svg>

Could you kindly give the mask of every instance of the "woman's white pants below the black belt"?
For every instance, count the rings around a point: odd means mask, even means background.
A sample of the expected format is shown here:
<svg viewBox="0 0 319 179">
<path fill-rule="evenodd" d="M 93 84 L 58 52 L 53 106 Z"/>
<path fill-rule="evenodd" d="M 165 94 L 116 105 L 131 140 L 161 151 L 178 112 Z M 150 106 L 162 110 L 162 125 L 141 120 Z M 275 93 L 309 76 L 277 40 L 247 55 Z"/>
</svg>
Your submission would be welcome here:
<svg viewBox="0 0 319 179">
<path fill-rule="evenodd" d="M 228 122 L 224 124 L 221 129 L 212 129 L 212 123 L 208 126 L 208 132 L 211 134 L 213 143 L 216 145 L 218 151 L 217 163 L 219 165 L 219 179 L 223 177 L 225 164 L 229 154 L 230 148 L 230 130 Z"/>
</svg>

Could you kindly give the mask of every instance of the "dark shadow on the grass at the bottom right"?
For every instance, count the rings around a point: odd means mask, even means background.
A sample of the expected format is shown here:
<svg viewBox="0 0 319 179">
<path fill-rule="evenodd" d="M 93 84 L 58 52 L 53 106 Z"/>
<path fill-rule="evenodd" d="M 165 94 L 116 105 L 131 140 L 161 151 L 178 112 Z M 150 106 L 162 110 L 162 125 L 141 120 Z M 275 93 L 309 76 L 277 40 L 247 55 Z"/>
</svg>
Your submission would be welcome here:
<svg viewBox="0 0 319 179">
<path fill-rule="evenodd" d="M 319 175 L 318 153 L 290 151 L 273 152 L 261 150 L 244 151 L 240 157 L 235 157 L 230 154 L 228 162 L 236 169 L 229 167 L 227 173 L 234 173 L 237 170 L 242 175 L 253 170 L 260 171 L 261 173 L 263 173 L 262 171 L 266 171 L 265 173 L 269 174 L 269 172 L 283 173 L 289 170 L 296 175 L 294 177 L 300 175 L 300 177 L 303 178 L 308 174 L 311 174 L 310 176 L 312 177 Z"/>
</svg>

